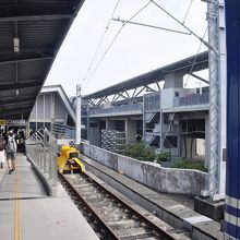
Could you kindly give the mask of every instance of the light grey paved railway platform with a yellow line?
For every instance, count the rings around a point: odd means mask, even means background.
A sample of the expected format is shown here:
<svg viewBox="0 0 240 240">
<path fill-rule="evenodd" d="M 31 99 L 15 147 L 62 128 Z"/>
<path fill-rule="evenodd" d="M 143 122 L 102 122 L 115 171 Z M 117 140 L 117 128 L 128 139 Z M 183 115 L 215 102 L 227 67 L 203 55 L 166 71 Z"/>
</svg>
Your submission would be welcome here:
<svg viewBox="0 0 240 240">
<path fill-rule="evenodd" d="M 4 240 L 97 240 L 63 188 L 48 196 L 26 156 L 17 154 L 16 169 L 0 168 L 0 236 Z"/>
</svg>

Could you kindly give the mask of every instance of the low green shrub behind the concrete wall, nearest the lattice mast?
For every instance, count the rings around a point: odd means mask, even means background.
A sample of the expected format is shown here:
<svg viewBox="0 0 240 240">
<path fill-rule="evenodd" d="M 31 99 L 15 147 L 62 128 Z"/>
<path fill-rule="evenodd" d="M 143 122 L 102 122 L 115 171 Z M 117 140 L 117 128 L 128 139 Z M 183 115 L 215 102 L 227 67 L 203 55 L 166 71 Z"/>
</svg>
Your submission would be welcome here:
<svg viewBox="0 0 240 240">
<path fill-rule="evenodd" d="M 205 172 L 208 171 L 207 168 L 204 166 L 204 163 L 188 159 L 177 159 L 171 164 L 170 167 L 181 169 L 196 169 Z"/>
</svg>

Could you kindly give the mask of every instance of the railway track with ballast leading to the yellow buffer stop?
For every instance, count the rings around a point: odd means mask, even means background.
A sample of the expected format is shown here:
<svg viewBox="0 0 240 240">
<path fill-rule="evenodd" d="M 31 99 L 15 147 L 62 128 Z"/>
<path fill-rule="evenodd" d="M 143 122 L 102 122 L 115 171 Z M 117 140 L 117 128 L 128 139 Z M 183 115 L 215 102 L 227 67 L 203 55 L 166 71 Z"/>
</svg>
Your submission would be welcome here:
<svg viewBox="0 0 240 240">
<path fill-rule="evenodd" d="M 100 239 L 180 239 L 140 214 L 91 173 L 59 175 L 59 179 Z"/>
</svg>

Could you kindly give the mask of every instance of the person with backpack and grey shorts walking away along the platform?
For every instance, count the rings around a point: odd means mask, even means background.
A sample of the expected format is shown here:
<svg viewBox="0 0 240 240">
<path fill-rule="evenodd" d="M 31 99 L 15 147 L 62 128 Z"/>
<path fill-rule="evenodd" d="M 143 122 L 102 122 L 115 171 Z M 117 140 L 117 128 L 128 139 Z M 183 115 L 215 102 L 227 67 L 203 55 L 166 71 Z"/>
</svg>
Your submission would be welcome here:
<svg viewBox="0 0 240 240">
<path fill-rule="evenodd" d="M 16 159 L 16 141 L 13 131 L 9 132 L 8 141 L 7 141 L 7 161 L 9 166 L 9 175 L 15 170 L 15 159 Z"/>
</svg>

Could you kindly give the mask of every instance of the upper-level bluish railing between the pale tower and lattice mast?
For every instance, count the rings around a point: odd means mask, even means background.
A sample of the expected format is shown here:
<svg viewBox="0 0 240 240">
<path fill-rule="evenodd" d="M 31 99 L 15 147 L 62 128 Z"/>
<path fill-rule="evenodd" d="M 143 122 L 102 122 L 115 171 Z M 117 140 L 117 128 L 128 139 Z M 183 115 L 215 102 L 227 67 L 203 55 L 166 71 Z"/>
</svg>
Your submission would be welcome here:
<svg viewBox="0 0 240 240">
<path fill-rule="evenodd" d="M 188 95 L 185 97 L 175 97 L 173 98 L 173 107 L 205 105 L 205 104 L 209 104 L 209 94 L 208 93 Z"/>
</svg>

